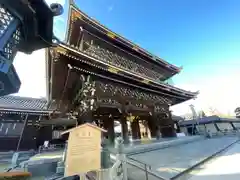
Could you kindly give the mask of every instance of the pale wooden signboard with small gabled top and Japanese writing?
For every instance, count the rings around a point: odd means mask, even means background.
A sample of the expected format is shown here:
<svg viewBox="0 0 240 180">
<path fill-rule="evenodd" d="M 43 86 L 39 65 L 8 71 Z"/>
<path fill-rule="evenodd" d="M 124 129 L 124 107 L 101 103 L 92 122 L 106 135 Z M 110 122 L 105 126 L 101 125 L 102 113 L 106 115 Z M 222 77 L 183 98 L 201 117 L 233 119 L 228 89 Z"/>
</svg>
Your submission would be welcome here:
<svg viewBox="0 0 240 180">
<path fill-rule="evenodd" d="M 62 134 L 70 133 L 65 162 L 65 176 L 101 169 L 101 133 L 105 130 L 83 124 Z"/>
</svg>

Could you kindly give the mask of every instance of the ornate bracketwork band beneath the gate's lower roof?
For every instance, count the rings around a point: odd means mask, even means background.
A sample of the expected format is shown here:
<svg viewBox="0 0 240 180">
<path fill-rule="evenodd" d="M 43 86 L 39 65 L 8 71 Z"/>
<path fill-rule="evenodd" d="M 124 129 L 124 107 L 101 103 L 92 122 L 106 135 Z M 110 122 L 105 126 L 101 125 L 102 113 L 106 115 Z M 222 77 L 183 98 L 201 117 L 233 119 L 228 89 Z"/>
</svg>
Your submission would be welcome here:
<svg viewBox="0 0 240 180">
<path fill-rule="evenodd" d="M 163 104 L 172 104 L 172 101 L 161 97 L 156 94 L 150 94 L 143 92 L 139 89 L 134 89 L 134 88 L 128 88 L 128 87 L 123 87 L 115 84 L 110 84 L 110 83 L 104 83 L 98 81 L 97 84 L 99 85 L 99 88 L 101 91 L 108 95 L 116 96 L 117 94 L 122 96 L 122 97 L 128 97 L 128 98 L 133 98 L 136 100 L 147 100 L 147 101 L 153 101 L 153 102 L 158 102 L 158 103 L 163 103 Z"/>
</svg>

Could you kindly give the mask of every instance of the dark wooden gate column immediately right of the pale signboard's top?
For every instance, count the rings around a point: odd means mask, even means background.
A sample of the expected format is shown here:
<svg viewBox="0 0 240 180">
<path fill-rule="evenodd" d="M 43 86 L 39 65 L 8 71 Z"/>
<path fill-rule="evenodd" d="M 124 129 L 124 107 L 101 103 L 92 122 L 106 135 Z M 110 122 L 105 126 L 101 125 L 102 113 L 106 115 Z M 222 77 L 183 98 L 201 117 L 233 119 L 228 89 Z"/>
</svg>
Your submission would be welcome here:
<svg viewBox="0 0 240 180">
<path fill-rule="evenodd" d="M 103 128 L 107 130 L 107 138 L 111 143 L 114 143 L 115 132 L 114 132 L 114 120 L 109 116 L 102 116 Z"/>
</svg>

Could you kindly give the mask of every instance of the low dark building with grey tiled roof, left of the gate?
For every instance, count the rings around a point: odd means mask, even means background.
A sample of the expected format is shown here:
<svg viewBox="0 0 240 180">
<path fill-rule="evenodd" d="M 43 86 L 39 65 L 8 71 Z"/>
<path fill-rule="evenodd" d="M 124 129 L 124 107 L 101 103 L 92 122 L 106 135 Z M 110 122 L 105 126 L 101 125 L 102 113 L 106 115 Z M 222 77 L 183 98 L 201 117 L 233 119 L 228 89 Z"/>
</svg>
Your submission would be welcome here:
<svg viewBox="0 0 240 180">
<path fill-rule="evenodd" d="M 0 97 L 0 151 L 37 149 L 51 140 L 52 126 L 41 125 L 49 120 L 50 109 L 46 99 Z"/>
</svg>

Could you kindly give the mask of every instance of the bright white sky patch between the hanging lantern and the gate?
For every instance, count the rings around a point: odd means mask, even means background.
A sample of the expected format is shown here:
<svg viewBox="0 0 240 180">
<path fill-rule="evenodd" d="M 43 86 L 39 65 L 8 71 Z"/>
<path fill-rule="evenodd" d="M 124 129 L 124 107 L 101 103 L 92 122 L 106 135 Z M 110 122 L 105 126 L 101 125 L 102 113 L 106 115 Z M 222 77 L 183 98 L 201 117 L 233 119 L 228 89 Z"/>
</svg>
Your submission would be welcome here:
<svg viewBox="0 0 240 180">
<path fill-rule="evenodd" d="M 46 96 L 45 50 L 38 50 L 31 55 L 18 53 L 13 62 L 22 82 L 17 95 L 27 97 Z"/>
</svg>

